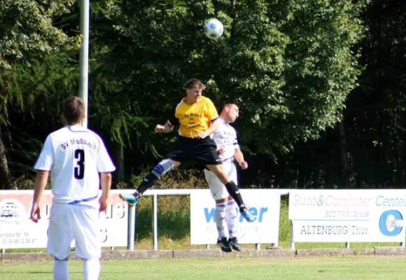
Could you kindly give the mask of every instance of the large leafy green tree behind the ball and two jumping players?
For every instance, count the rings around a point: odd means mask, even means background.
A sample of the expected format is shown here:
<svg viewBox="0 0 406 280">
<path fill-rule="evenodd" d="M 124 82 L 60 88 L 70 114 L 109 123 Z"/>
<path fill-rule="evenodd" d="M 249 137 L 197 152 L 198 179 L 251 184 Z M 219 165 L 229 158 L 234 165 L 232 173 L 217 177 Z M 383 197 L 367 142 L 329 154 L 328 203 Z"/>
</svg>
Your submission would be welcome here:
<svg viewBox="0 0 406 280">
<path fill-rule="evenodd" d="M 137 92 L 141 115 L 171 108 L 186 79 L 202 78 L 216 104 L 241 103 L 245 143 L 258 153 L 286 153 L 341 119 L 361 69 L 364 7 L 347 0 L 117 1 L 110 6 L 120 35 L 114 69 L 131 69 L 122 73 L 125 91 Z M 212 17 L 225 26 L 218 41 L 202 31 Z"/>
</svg>

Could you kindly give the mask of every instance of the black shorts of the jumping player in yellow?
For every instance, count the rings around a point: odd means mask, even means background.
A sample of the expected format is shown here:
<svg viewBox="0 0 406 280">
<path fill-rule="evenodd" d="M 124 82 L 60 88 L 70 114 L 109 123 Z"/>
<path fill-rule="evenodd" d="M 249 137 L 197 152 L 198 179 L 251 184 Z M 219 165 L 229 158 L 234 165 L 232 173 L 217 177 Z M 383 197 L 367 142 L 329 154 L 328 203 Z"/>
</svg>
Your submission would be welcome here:
<svg viewBox="0 0 406 280">
<path fill-rule="evenodd" d="M 213 139 L 179 137 L 174 148 L 165 158 L 176 162 L 192 161 L 199 165 L 221 165 L 221 158 L 217 153 L 217 145 Z"/>
</svg>

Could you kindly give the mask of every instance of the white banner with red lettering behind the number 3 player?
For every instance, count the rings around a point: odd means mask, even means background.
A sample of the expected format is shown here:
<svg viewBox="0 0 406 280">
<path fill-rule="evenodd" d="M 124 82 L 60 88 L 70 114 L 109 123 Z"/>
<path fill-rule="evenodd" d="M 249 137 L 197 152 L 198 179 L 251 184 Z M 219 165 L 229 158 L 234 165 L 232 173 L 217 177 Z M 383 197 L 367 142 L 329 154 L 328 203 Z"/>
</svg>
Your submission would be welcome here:
<svg viewBox="0 0 406 280">
<path fill-rule="evenodd" d="M 32 190 L 0 190 L 0 248 L 45 248 L 52 193 L 40 200 L 41 220 L 29 220 Z M 127 204 L 111 190 L 107 211 L 100 212 L 102 246 L 127 246 Z M 72 243 L 74 246 L 74 242 Z"/>
</svg>

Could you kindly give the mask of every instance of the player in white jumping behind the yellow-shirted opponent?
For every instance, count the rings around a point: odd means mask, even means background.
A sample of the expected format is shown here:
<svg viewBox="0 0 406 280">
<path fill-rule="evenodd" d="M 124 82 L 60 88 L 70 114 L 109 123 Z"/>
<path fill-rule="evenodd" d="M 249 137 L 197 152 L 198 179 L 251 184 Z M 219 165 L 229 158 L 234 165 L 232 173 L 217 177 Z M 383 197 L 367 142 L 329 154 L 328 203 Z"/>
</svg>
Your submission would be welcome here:
<svg viewBox="0 0 406 280">
<path fill-rule="evenodd" d="M 241 169 L 247 169 L 248 163 L 244 160 L 244 155 L 239 149 L 237 141 L 237 132 L 230 123 L 234 123 L 238 118 L 239 109 L 237 104 L 228 102 L 223 106 L 220 113 L 221 125 L 212 134 L 214 141 L 217 144 L 218 154 L 223 161 L 224 169 L 227 175 L 237 185 L 237 169 L 235 168 L 235 160 L 237 160 Z M 216 200 L 216 226 L 218 230 L 217 244 L 222 251 L 231 252 L 232 248 L 236 251 L 241 251 L 239 246 L 235 223 L 237 222 L 237 204 L 235 200 L 228 194 L 223 183 L 207 169 L 204 169 L 204 177 L 211 191 L 211 196 Z M 228 226 L 228 239 L 225 235 L 225 223 Z"/>
</svg>

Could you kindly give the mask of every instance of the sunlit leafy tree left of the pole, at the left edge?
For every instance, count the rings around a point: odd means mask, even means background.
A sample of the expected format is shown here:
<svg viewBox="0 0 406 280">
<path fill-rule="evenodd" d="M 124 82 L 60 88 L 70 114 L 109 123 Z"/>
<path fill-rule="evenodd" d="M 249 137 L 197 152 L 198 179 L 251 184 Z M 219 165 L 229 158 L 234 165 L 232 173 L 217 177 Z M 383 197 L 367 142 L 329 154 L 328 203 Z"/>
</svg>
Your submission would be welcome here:
<svg viewBox="0 0 406 280">
<path fill-rule="evenodd" d="M 68 36 L 55 27 L 56 17 L 69 12 L 74 3 L 69 1 L 2 0 L 0 1 L 0 128 L 10 125 L 8 108 L 29 108 L 34 96 L 20 90 L 10 90 L 10 76 L 15 65 L 29 68 L 33 57 L 41 59 L 52 53 L 78 47 L 78 37 Z M 24 77 L 28 78 L 28 77 Z M 32 85 L 31 85 L 32 86 Z M 18 86 L 19 88 L 19 86 Z M 30 92 L 33 93 L 33 92 Z M 15 187 L 8 170 L 6 149 L 0 130 L 0 188 Z"/>
</svg>

